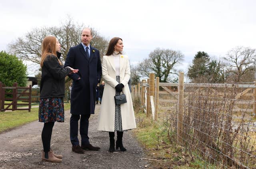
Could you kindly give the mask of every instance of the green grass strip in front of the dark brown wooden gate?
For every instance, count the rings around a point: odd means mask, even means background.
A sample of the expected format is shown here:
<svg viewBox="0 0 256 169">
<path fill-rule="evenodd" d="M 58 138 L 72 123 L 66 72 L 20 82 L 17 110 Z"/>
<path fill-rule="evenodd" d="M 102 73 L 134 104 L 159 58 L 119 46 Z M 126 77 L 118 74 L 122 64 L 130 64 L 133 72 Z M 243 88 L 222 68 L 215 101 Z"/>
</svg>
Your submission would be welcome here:
<svg viewBox="0 0 256 169">
<path fill-rule="evenodd" d="M 64 109 L 70 109 L 70 103 L 65 103 Z M 32 108 L 31 112 L 28 112 L 28 110 L 0 112 L 0 132 L 35 120 L 38 120 L 38 107 Z"/>
</svg>

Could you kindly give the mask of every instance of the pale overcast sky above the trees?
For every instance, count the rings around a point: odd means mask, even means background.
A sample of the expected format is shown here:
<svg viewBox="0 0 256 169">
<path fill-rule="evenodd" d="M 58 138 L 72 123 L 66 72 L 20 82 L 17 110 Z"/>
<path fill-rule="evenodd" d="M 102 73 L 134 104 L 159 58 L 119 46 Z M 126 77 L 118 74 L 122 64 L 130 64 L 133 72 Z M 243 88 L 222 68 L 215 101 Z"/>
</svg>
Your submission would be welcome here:
<svg viewBox="0 0 256 169">
<path fill-rule="evenodd" d="M 219 58 L 236 46 L 256 48 L 254 0 L 1 0 L 0 50 L 67 15 L 106 38 L 122 38 L 133 64 L 155 48 L 180 50 L 185 61 L 178 68 L 186 72 L 198 51 Z"/>
</svg>

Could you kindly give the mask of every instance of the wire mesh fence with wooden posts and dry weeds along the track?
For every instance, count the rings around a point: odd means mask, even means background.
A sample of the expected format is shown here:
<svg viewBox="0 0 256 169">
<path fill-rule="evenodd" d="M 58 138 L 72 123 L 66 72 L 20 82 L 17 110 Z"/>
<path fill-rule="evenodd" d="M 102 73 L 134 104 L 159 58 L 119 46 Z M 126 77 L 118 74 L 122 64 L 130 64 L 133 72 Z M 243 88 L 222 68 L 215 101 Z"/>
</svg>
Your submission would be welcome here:
<svg viewBox="0 0 256 169">
<path fill-rule="evenodd" d="M 202 168 L 256 168 L 254 82 L 158 86 L 158 80 L 133 86 L 132 95 L 140 98 L 147 117 L 163 123 L 171 143 L 203 161 Z"/>
</svg>

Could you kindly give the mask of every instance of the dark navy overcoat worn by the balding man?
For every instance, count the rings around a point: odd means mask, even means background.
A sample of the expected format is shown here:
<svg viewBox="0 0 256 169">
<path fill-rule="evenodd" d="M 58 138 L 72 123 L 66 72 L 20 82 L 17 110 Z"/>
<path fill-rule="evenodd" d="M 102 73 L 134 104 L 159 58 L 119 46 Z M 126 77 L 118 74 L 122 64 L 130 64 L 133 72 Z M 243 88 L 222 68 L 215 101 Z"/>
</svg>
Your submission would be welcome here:
<svg viewBox="0 0 256 169">
<path fill-rule="evenodd" d="M 89 59 L 82 44 L 71 47 L 64 64 L 66 66 L 79 70 L 78 73 L 69 75 L 73 80 L 70 113 L 94 114 L 96 86 L 102 75 L 99 51 L 90 46 Z"/>
</svg>

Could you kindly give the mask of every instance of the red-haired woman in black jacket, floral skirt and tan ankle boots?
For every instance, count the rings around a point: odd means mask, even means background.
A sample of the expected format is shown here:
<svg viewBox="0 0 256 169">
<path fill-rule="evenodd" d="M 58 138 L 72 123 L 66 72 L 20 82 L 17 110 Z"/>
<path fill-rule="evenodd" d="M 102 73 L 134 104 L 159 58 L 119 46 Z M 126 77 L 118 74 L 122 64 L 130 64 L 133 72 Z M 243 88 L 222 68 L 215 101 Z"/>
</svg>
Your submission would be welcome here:
<svg viewBox="0 0 256 169">
<path fill-rule="evenodd" d="M 50 149 L 52 128 L 54 122 L 64 122 L 65 76 L 77 73 L 70 67 L 63 68 L 60 62 L 60 43 L 54 36 L 46 36 L 42 42 L 42 55 L 40 66 L 42 78 L 40 85 L 40 103 L 38 119 L 44 123 L 42 129 L 42 161 L 58 163 L 62 155 L 56 155 Z"/>
</svg>

